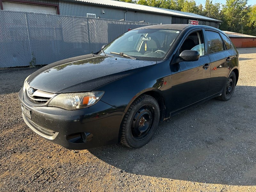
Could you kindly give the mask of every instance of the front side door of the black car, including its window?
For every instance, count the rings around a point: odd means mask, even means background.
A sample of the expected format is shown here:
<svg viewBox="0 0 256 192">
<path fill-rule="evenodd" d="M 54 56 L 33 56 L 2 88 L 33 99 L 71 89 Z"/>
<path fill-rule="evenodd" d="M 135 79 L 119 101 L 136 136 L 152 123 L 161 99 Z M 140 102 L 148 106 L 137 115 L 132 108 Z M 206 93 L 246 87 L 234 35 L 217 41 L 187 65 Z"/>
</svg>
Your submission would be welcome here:
<svg viewBox="0 0 256 192">
<path fill-rule="evenodd" d="M 184 50 L 196 50 L 200 53 L 200 58 L 192 62 L 172 62 L 172 111 L 204 99 L 209 85 L 211 61 L 205 54 L 203 30 L 190 32 L 175 57 L 177 58 Z"/>
</svg>

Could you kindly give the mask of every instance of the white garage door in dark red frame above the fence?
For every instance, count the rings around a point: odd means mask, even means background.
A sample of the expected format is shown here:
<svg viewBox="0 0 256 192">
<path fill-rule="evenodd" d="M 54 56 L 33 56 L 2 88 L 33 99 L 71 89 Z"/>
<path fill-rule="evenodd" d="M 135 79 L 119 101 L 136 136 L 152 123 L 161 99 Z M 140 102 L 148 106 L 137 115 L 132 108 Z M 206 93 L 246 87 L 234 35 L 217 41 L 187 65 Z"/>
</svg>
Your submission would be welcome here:
<svg viewBox="0 0 256 192">
<path fill-rule="evenodd" d="M 4 10 L 8 11 L 22 11 L 22 12 L 34 12 L 34 13 L 44 13 L 44 14 L 54 14 L 57 15 L 56 7 L 44 6 L 44 5 L 33 5 L 24 3 L 13 3 L 4 2 Z"/>
</svg>

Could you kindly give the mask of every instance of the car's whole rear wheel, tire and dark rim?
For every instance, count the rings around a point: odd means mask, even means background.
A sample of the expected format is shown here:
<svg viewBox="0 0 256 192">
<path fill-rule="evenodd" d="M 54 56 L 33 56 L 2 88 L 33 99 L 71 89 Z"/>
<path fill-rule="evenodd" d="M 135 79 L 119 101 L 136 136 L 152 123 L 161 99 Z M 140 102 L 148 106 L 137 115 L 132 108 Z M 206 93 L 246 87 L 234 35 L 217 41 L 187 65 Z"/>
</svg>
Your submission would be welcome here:
<svg viewBox="0 0 256 192">
<path fill-rule="evenodd" d="M 230 98 L 234 93 L 235 86 L 236 86 L 236 74 L 234 71 L 232 71 L 228 77 L 226 84 L 224 85 L 222 94 L 216 97 L 216 99 L 222 100 L 222 101 L 230 100 Z"/>
</svg>

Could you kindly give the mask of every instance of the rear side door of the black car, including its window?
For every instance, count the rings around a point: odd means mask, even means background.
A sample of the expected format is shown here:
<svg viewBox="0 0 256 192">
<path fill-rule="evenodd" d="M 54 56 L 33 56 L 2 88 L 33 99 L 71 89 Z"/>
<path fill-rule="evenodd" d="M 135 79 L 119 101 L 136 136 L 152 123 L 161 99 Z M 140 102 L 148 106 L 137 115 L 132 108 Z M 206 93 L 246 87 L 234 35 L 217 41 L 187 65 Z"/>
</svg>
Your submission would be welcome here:
<svg viewBox="0 0 256 192">
<path fill-rule="evenodd" d="M 211 60 L 211 77 L 206 96 L 211 96 L 221 92 L 224 87 L 230 71 L 227 67 L 230 55 L 218 31 L 205 30 L 205 34 L 207 37 L 208 54 Z"/>
</svg>

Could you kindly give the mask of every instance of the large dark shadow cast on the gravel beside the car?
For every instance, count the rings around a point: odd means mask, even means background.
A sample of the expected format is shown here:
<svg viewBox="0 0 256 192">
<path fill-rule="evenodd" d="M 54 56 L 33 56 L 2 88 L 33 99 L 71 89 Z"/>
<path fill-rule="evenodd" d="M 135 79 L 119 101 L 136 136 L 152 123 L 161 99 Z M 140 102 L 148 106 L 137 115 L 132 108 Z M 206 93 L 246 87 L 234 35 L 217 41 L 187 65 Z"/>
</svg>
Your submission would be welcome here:
<svg viewBox="0 0 256 192">
<path fill-rule="evenodd" d="M 89 151 L 120 172 L 256 185 L 255 99 L 256 87 L 236 86 L 229 101 L 212 99 L 161 123 L 142 148 L 116 144 Z"/>
</svg>

